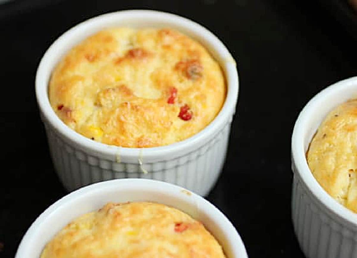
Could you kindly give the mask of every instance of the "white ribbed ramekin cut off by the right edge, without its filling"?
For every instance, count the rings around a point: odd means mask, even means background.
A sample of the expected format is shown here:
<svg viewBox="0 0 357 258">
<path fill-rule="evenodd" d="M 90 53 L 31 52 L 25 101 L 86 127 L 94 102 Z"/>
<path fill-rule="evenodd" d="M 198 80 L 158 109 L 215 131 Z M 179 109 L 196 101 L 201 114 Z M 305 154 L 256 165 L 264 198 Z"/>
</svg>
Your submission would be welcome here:
<svg viewBox="0 0 357 258">
<path fill-rule="evenodd" d="M 357 214 L 335 201 L 313 177 L 306 151 L 328 112 L 357 96 L 357 77 L 327 87 L 301 111 L 292 134 L 292 220 L 310 258 L 356 258 Z"/>
</svg>

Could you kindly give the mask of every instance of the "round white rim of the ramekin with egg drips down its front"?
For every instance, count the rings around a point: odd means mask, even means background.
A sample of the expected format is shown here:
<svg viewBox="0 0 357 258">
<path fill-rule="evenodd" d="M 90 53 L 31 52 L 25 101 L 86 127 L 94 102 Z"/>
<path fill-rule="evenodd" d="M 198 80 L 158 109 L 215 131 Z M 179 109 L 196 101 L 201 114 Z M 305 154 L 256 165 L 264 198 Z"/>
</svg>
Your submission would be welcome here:
<svg viewBox="0 0 357 258">
<path fill-rule="evenodd" d="M 110 19 L 110 17 L 117 15 L 139 16 L 144 14 L 155 16 L 160 15 L 161 18 L 165 18 L 165 20 L 167 21 L 175 20 L 175 22 L 180 22 L 181 24 L 184 24 L 187 29 L 190 29 L 190 31 L 193 32 L 195 35 L 209 38 L 210 42 L 212 42 L 212 45 L 214 45 L 214 49 L 217 52 L 224 54 L 224 56 L 222 56 L 222 59 L 226 61 L 224 63 L 220 62 L 220 65 L 222 68 L 225 68 L 225 78 L 227 82 L 227 95 L 225 102 L 218 115 L 214 118 L 213 121 L 211 121 L 210 124 L 203 128 L 203 130 L 183 141 L 172 143 L 170 145 L 150 148 L 127 148 L 114 145 L 106 145 L 104 143 L 92 141 L 89 138 L 80 135 L 79 133 L 65 125 L 65 123 L 63 123 L 56 115 L 56 113 L 52 110 L 47 94 L 47 86 L 41 87 L 43 84 L 46 83 L 42 79 L 41 71 L 44 69 L 47 59 L 51 58 L 51 51 L 53 52 L 56 49 L 56 46 L 64 42 L 67 37 L 72 37 L 72 34 L 75 34 L 77 30 L 81 30 L 86 26 L 93 26 L 93 24 L 100 21 L 101 19 Z M 99 152 L 106 156 L 116 156 L 118 150 L 120 149 L 120 155 L 122 157 L 135 158 L 142 155 L 142 152 L 145 151 L 145 158 L 147 160 L 150 160 L 150 158 L 156 158 L 164 154 L 170 155 L 172 153 L 185 151 L 188 147 L 200 144 L 204 142 L 205 138 L 214 135 L 224 123 L 229 121 L 230 116 L 235 113 L 238 101 L 239 81 L 236 63 L 232 55 L 228 51 L 227 47 L 223 44 L 223 42 L 218 39 L 217 36 L 215 36 L 211 31 L 209 31 L 202 25 L 185 17 L 176 14 L 171 14 L 169 12 L 162 12 L 156 10 L 122 10 L 92 17 L 91 19 L 85 20 L 75 25 L 71 29 L 64 32 L 61 36 L 59 36 L 47 49 L 40 61 L 36 72 L 35 88 L 37 103 L 39 105 L 42 115 L 58 132 L 60 132 L 62 136 L 64 136 L 68 140 L 74 142 L 76 145 L 81 146 L 86 150 Z M 46 89 L 45 93 L 47 97 L 42 97 L 44 95 L 44 89 Z"/>
</svg>

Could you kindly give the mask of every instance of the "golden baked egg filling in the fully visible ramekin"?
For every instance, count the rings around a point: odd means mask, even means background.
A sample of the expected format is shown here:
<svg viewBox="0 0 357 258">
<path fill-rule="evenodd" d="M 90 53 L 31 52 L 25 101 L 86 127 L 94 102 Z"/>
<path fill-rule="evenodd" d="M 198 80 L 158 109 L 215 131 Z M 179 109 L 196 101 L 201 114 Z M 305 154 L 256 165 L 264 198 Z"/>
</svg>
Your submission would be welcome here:
<svg viewBox="0 0 357 258">
<path fill-rule="evenodd" d="M 122 147 L 184 140 L 216 117 L 225 96 L 218 63 L 170 29 L 100 31 L 62 59 L 49 85 L 52 108 L 69 127 Z"/>
</svg>

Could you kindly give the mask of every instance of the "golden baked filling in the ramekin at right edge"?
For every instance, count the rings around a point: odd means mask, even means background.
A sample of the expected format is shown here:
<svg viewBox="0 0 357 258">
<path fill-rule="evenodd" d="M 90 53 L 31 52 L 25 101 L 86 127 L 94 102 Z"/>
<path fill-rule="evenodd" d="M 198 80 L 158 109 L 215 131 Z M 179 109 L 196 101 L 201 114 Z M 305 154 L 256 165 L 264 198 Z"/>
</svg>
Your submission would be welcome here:
<svg viewBox="0 0 357 258">
<path fill-rule="evenodd" d="M 327 115 L 311 141 L 307 161 L 321 186 L 357 212 L 357 100 Z"/>
</svg>

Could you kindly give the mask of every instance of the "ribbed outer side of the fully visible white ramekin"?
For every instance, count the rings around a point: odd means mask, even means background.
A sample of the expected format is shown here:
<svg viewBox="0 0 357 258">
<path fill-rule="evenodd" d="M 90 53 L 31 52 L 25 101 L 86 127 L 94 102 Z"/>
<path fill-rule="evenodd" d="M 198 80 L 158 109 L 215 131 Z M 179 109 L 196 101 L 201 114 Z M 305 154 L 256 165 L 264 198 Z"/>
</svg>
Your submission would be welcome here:
<svg viewBox="0 0 357 258">
<path fill-rule="evenodd" d="M 178 158 L 164 157 L 163 161 L 126 163 L 105 160 L 65 143 L 45 122 L 55 170 L 68 191 L 91 183 L 115 178 L 147 178 L 173 183 L 205 196 L 215 184 L 226 157 L 231 121 L 217 135 L 195 151 Z M 144 173 L 142 168 L 148 173 Z"/>
</svg>

